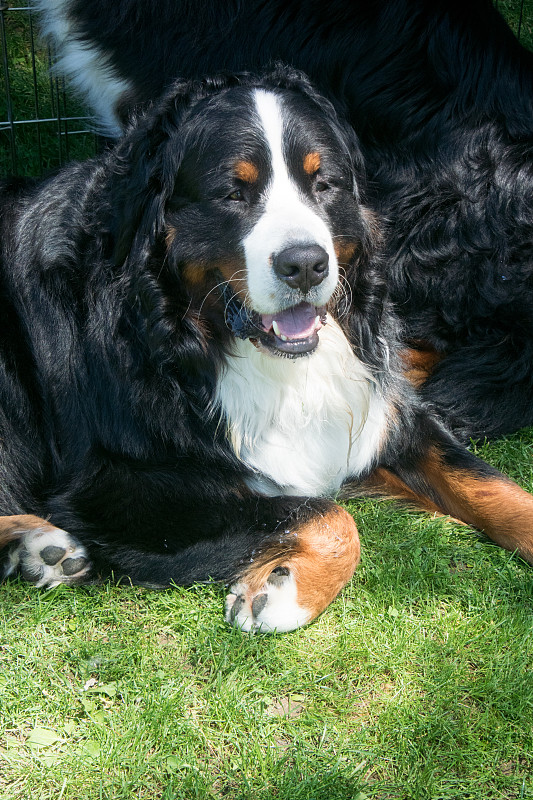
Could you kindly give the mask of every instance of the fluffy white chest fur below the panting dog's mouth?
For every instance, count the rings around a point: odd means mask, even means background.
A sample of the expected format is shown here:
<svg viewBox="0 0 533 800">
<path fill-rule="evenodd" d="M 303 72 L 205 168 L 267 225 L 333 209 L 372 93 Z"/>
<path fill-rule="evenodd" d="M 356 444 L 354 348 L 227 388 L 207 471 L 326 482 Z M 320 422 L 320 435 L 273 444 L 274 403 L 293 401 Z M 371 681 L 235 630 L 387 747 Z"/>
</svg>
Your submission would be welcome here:
<svg viewBox="0 0 533 800">
<path fill-rule="evenodd" d="M 335 494 L 375 461 L 387 426 L 379 388 L 332 320 L 296 360 L 236 341 L 216 399 L 250 483 L 269 495 Z"/>
</svg>

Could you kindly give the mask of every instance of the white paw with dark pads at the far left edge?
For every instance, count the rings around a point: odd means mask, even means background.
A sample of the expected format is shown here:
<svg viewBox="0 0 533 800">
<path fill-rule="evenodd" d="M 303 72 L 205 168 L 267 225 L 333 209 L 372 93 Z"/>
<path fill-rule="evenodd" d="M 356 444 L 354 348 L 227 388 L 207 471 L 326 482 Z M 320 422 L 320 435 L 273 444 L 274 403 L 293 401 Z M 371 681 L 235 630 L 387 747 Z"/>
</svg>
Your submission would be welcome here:
<svg viewBox="0 0 533 800">
<path fill-rule="evenodd" d="M 24 533 L 9 558 L 9 572 L 18 569 L 24 580 L 38 588 L 81 583 L 91 569 L 85 548 L 66 531 L 52 525 Z"/>
</svg>

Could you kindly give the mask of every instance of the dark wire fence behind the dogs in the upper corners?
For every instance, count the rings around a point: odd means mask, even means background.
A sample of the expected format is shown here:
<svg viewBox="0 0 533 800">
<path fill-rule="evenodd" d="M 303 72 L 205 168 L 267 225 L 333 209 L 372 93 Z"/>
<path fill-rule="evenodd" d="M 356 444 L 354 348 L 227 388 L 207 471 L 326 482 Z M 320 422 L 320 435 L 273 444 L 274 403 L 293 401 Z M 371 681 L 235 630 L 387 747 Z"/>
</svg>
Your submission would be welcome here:
<svg viewBox="0 0 533 800">
<path fill-rule="evenodd" d="M 495 5 L 532 47 L 533 0 Z M 87 110 L 54 75 L 55 56 L 39 40 L 37 23 L 31 5 L 0 0 L 0 175 L 42 175 L 101 145 Z"/>
</svg>

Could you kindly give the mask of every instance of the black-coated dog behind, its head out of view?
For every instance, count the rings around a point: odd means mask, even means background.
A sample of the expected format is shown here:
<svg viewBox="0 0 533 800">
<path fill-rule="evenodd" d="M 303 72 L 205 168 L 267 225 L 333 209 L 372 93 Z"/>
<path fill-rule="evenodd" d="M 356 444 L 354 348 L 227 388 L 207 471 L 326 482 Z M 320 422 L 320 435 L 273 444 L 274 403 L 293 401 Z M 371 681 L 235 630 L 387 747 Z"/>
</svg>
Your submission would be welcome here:
<svg viewBox="0 0 533 800">
<path fill-rule="evenodd" d="M 533 424 L 533 57 L 492 0 L 37 0 L 111 133 L 177 77 L 292 64 L 346 115 L 425 400 Z"/>
</svg>

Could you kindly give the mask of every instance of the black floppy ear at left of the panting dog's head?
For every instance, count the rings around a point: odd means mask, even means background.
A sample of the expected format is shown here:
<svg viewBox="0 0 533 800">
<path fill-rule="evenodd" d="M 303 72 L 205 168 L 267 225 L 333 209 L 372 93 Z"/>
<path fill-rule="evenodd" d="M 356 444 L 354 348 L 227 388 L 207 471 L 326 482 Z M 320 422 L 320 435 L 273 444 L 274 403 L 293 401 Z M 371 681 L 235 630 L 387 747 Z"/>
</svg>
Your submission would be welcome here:
<svg viewBox="0 0 533 800">
<path fill-rule="evenodd" d="M 176 81 L 164 98 L 132 119 L 111 154 L 115 263 L 145 264 L 165 231 L 166 205 L 185 149 L 185 124 L 194 105 L 238 76 Z"/>
</svg>

